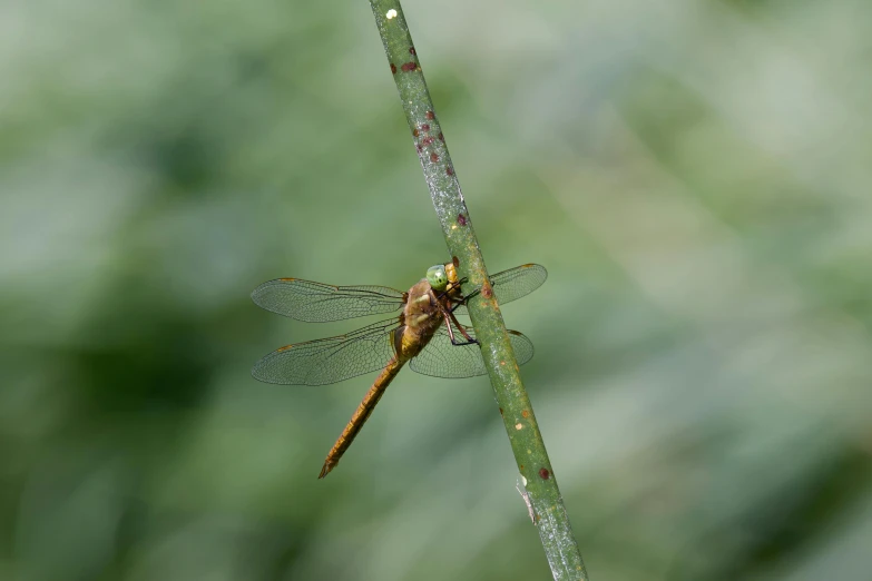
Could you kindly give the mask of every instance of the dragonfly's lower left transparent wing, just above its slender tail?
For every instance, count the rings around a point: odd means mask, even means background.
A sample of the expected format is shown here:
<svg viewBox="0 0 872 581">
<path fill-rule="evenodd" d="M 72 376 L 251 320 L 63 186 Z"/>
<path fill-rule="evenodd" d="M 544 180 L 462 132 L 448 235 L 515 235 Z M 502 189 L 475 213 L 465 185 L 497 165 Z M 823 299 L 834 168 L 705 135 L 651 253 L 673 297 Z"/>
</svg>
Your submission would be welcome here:
<svg viewBox="0 0 872 581">
<path fill-rule="evenodd" d="M 252 367 L 255 380 L 292 385 L 326 385 L 384 367 L 393 356 L 396 318 L 346 335 L 287 345 Z"/>
</svg>

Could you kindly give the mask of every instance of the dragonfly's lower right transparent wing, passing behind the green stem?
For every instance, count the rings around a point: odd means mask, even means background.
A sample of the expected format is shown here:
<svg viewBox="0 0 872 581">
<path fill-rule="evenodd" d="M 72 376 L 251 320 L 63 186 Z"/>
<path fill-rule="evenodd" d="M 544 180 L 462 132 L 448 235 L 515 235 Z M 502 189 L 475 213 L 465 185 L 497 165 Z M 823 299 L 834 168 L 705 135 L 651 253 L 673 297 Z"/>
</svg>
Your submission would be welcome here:
<svg viewBox="0 0 872 581">
<path fill-rule="evenodd" d="M 467 328 L 467 332 L 472 336 L 471 328 Z M 454 337 L 463 341 L 460 333 L 455 332 Z M 529 338 L 517 331 L 509 331 L 509 341 L 519 365 L 532 358 L 533 346 Z M 474 377 L 488 373 L 484 360 L 481 358 L 481 347 L 477 344 L 453 345 L 444 325 L 439 327 L 427 347 L 409 362 L 409 367 L 422 375 L 449 380 Z"/>
</svg>

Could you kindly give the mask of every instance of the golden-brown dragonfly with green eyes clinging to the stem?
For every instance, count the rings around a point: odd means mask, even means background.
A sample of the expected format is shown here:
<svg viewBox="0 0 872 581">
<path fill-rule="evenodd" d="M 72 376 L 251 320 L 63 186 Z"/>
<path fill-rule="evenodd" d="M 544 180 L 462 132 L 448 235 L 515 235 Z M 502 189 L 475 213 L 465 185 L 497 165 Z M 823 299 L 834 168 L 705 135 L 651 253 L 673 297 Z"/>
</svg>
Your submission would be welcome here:
<svg viewBox="0 0 872 581">
<path fill-rule="evenodd" d="M 548 277 L 545 267 L 525 264 L 490 276 L 500 304 L 526 296 Z M 460 378 L 484 375 L 487 370 L 474 332 L 461 324 L 467 313 L 466 279 L 453 263 L 439 264 L 409 290 L 386 286 L 333 286 L 302 278 L 277 278 L 252 293 L 254 303 L 280 315 L 325 323 L 399 312 L 336 337 L 285 345 L 258 361 L 254 378 L 285 385 L 327 385 L 381 370 L 370 391 L 327 453 L 319 479 L 327 475 L 360 433 L 384 391 L 400 370 L 423 375 Z M 525 364 L 533 355 L 529 338 L 509 331 L 515 357 Z"/>
</svg>

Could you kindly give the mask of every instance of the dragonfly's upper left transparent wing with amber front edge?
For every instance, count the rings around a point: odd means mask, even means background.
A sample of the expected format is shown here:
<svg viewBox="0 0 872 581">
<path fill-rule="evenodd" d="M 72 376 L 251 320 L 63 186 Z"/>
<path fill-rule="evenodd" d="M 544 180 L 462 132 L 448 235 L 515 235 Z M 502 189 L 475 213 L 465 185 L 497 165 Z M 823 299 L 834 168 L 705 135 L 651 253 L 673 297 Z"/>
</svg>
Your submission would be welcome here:
<svg viewBox="0 0 872 581">
<path fill-rule="evenodd" d="M 399 311 L 405 293 L 386 286 L 331 286 L 302 278 L 277 278 L 255 288 L 252 301 L 286 317 L 325 323 Z"/>
</svg>

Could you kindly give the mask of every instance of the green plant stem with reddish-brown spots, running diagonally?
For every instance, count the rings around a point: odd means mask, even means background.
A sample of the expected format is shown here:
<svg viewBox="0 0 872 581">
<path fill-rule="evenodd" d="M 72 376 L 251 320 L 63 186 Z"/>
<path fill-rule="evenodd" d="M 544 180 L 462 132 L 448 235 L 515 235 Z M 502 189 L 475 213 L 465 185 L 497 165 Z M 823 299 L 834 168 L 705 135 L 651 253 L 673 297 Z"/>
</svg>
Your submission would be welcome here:
<svg viewBox="0 0 872 581">
<path fill-rule="evenodd" d="M 481 343 L 481 354 L 551 573 L 560 580 L 587 580 L 403 10 L 398 0 L 370 0 L 370 3 L 448 249 L 460 275 L 468 277 L 473 288 L 481 289 L 469 302 L 469 315 Z"/>
</svg>

